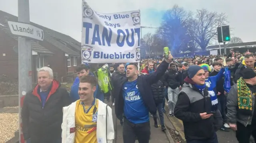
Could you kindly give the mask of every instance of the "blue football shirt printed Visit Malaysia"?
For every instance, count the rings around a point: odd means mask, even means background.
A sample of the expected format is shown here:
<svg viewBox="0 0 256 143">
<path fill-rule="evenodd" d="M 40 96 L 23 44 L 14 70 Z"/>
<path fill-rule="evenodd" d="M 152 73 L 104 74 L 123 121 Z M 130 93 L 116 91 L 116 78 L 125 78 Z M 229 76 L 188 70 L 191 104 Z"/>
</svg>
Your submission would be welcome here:
<svg viewBox="0 0 256 143">
<path fill-rule="evenodd" d="M 137 80 L 124 83 L 122 87 L 124 97 L 124 116 L 132 123 L 149 121 L 148 108 L 140 95 Z"/>
</svg>

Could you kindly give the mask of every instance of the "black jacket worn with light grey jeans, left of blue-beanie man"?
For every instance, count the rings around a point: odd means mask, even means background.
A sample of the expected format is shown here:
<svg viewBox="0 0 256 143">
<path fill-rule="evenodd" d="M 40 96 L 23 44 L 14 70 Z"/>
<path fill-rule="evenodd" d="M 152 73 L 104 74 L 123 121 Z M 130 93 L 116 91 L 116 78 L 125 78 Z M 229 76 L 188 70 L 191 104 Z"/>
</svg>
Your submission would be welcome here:
<svg viewBox="0 0 256 143">
<path fill-rule="evenodd" d="M 180 86 L 178 71 L 170 70 L 165 72 L 162 81 L 164 82 L 164 86 L 166 88 L 170 87 L 172 89 L 176 89 Z"/>
</svg>

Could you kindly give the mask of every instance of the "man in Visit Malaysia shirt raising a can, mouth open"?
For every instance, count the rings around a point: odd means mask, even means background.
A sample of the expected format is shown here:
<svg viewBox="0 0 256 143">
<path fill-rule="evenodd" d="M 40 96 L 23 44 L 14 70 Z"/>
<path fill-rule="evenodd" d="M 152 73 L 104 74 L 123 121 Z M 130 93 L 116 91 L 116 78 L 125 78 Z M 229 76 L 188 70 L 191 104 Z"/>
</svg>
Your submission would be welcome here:
<svg viewBox="0 0 256 143">
<path fill-rule="evenodd" d="M 130 63 L 127 65 L 126 78 L 118 78 L 114 87 L 116 94 L 115 112 L 118 119 L 123 121 L 124 143 L 148 143 L 150 138 L 149 114 L 156 114 L 156 104 L 151 92 L 151 85 L 158 82 L 168 65 L 172 55 L 158 67 L 156 72 L 138 76 L 138 66 Z M 128 80 L 127 80 L 128 79 Z"/>
</svg>

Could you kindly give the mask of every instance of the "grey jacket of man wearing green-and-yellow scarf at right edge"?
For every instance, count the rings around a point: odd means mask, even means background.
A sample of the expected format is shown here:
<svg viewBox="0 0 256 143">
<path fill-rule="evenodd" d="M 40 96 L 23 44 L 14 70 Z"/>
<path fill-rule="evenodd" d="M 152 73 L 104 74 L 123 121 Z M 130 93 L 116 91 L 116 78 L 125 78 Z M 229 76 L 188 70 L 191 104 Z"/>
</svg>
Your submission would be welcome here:
<svg viewBox="0 0 256 143">
<path fill-rule="evenodd" d="M 252 96 L 252 116 L 254 112 L 254 96 Z M 227 108 L 228 108 L 228 122 L 236 124 L 238 121 L 242 123 L 245 127 L 252 123 L 252 116 L 244 115 L 238 112 L 238 96 L 237 96 L 237 84 L 234 84 L 228 93 L 227 98 Z"/>
</svg>

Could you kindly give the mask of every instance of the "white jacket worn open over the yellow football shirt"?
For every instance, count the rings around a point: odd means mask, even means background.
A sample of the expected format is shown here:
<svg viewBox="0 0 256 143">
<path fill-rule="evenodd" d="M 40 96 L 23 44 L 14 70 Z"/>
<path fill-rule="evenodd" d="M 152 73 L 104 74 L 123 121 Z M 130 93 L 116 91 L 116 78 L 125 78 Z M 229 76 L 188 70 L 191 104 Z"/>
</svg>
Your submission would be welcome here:
<svg viewBox="0 0 256 143">
<path fill-rule="evenodd" d="M 75 141 L 75 133 L 70 133 L 70 130 L 75 129 L 75 111 L 76 102 L 63 107 L 62 143 L 74 143 Z M 100 100 L 98 100 L 96 136 L 98 143 L 112 143 L 115 138 L 112 109 Z"/>
</svg>

